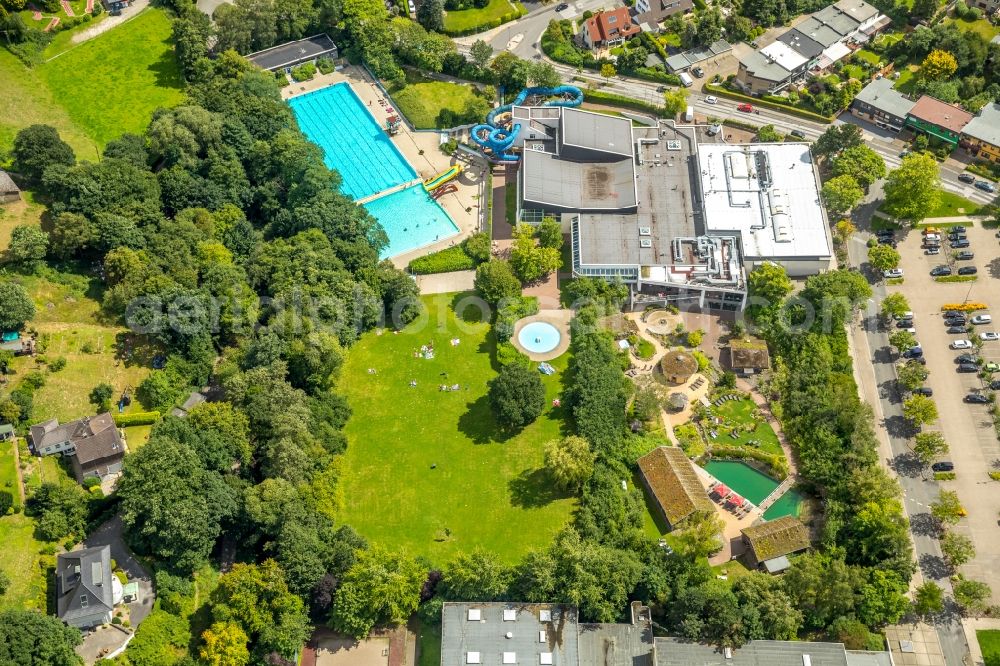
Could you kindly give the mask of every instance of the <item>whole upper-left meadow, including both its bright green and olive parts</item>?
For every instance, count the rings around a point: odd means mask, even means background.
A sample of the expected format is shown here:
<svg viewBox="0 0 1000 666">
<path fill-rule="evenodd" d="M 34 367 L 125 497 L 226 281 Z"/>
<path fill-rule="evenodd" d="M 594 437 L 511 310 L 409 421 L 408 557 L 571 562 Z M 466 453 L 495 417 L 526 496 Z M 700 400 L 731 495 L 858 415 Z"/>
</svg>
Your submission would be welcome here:
<svg viewBox="0 0 1000 666">
<path fill-rule="evenodd" d="M 69 33 L 56 39 L 69 46 Z M 145 129 L 157 107 L 179 104 L 182 84 L 170 18 L 160 9 L 146 9 L 33 69 L 0 50 L 0 153 L 10 149 L 17 130 L 45 123 L 78 158 L 94 160 L 109 140 Z"/>
</svg>

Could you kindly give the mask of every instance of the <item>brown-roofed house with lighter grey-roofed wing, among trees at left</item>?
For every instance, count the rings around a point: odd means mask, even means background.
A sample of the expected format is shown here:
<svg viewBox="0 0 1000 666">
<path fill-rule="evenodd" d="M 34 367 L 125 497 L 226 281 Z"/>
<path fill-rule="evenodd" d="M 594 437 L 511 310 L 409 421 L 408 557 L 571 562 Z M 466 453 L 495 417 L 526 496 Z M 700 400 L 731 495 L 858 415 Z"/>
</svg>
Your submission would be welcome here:
<svg viewBox="0 0 1000 666">
<path fill-rule="evenodd" d="M 69 456 L 80 483 L 88 476 L 103 479 L 122 469 L 125 442 L 109 412 L 61 425 L 58 419 L 49 419 L 31 426 L 30 436 L 36 455 Z"/>
</svg>

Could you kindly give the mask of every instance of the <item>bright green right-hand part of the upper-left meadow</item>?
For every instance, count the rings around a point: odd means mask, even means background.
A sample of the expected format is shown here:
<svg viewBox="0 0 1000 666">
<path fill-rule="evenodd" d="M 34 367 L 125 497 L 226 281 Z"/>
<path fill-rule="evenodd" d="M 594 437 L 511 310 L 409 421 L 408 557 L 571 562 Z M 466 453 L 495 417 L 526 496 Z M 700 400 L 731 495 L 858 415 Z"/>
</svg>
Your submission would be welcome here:
<svg viewBox="0 0 1000 666">
<path fill-rule="evenodd" d="M 170 18 L 159 9 L 84 42 L 40 73 L 70 118 L 101 146 L 123 132 L 141 133 L 155 109 L 183 99 Z"/>
</svg>

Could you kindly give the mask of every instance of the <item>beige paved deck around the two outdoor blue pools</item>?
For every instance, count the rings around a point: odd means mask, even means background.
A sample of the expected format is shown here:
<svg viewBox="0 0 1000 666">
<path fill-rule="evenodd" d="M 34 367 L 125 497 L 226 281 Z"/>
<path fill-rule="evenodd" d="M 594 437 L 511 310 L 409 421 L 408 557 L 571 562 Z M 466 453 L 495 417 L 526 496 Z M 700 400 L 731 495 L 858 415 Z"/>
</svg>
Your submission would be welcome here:
<svg viewBox="0 0 1000 666">
<path fill-rule="evenodd" d="M 302 95 L 313 90 L 326 88 L 337 83 L 349 83 L 354 93 L 361 99 L 379 126 L 385 125 L 386 112 L 383 110 L 379 100 L 386 101 L 393 105 L 383 93 L 378 83 L 361 67 L 347 65 L 340 71 L 329 74 L 317 73 L 309 81 L 301 83 L 293 82 L 291 85 L 282 88 L 281 96 L 288 100 L 298 95 Z M 397 113 L 398 110 L 397 110 Z M 402 114 L 399 114 L 402 115 Z M 459 243 L 462 239 L 479 230 L 480 202 L 486 205 L 483 197 L 485 191 L 485 179 L 487 174 L 487 164 L 484 160 L 472 158 L 469 155 L 455 153 L 455 156 L 445 155 L 441 149 L 441 132 L 438 131 L 414 131 L 407 123 L 400 124 L 399 132 L 392 137 L 392 142 L 410 163 L 410 166 L 417 172 L 421 180 L 435 176 L 447 170 L 454 164 L 464 164 L 464 171 L 461 176 L 451 181 L 458 185 L 458 190 L 445 194 L 437 201 L 444 208 L 445 212 L 458 227 L 459 232 L 454 236 L 445 238 L 431 245 L 415 248 L 409 252 L 390 257 L 390 260 L 399 268 L 405 268 L 410 261 L 437 250 Z M 395 191 L 399 188 L 391 188 L 385 193 Z M 364 201 L 378 198 L 382 193 L 374 197 L 366 197 Z"/>
</svg>

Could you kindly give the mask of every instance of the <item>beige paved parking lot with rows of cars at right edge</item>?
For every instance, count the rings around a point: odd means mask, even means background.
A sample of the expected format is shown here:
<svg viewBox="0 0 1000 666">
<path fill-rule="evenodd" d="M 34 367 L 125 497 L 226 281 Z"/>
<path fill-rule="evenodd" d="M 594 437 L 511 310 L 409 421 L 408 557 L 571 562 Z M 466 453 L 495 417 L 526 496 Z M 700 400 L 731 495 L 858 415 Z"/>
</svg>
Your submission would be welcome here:
<svg viewBox="0 0 1000 666">
<path fill-rule="evenodd" d="M 904 282 L 890 286 L 888 291 L 906 295 L 913 310 L 916 338 L 924 351 L 930 376 L 927 386 L 934 391 L 940 419 L 929 429 L 940 428 L 951 452 L 947 459 L 955 463 L 956 479 L 942 482 L 941 487 L 954 489 L 968 511 L 968 517 L 954 528 L 970 536 L 976 544 L 976 558 L 962 567 L 969 577 L 988 582 L 994 600 L 1000 597 L 1000 492 L 990 487 L 998 482 L 987 475 L 1000 470 L 1000 442 L 997 440 L 989 405 L 968 404 L 963 398 L 970 392 L 982 392 L 989 380 L 976 373 L 957 371 L 956 358 L 972 350 L 950 349 L 960 338 L 973 340 L 984 331 L 1000 330 L 1000 239 L 994 230 L 965 224 L 975 253 L 971 261 L 953 261 L 951 250 L 944 242 L 939 255 L 927 255 L 921 247 L 920 230 L 905 236 L 897 233 L 902 255 L 900 267 Z M 938 283 L 930 276 L 936 266 L 951 264 L 974 265 L 978 270 L 975 282 Z M 944 324 L 941 306 L 945 303 L 982 302 L 989 306 L 994 321 L 989 325 L 970 326 L 968 333 L 949 334 Z M 969 318 L 976 313 L 970 313 Z M 984 342 L 981 356 L 985 362 L 1000 363 L 1000 341 Z M 1000 373 L 994 375 L 1000 378 Z M 928 472 L 929 473 L 929 472 Z"/>
</svg>

